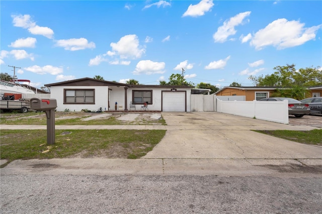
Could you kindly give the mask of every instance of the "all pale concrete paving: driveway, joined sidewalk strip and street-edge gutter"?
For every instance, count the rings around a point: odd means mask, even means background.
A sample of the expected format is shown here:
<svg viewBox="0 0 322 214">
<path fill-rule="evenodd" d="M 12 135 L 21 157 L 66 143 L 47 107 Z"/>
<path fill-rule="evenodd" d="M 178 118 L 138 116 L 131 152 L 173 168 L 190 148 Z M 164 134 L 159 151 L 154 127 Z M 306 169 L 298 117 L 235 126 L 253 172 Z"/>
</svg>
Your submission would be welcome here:
<svg viewBox="0 0 322 214">
<path fill-rule="evenodd" d="M 300 144 L 251 130 L 312 130 L 215 112 L 162 113 L 167 126 L 56 126 L 72 129 L 163 129 L 162 141 L 137 160 L 17 160 L 1 174 L 160 174 L 320 176 L 322 147 Z M 1 129 L 46 129 L 46 126 L 1 125 Z M 273 167 L 278 166 L 278 167 Z M 307 170 L 309 167 L 310 170 Z M 305 170 L 303 169 L 305 168 Z M 305 172 L 305 173 L 303 173 Z"/>
</svg>

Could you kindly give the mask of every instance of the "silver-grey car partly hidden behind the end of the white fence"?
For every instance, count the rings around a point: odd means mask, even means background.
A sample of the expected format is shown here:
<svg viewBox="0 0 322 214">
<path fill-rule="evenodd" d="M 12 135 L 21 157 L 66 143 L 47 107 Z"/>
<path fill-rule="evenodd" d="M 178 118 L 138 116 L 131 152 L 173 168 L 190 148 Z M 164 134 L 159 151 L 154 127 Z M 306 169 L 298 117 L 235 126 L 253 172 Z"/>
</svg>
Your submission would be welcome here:
<svg viewBox="0 0 322 214">
<path fill-rule="evenodd" d="M 296 118 L 301 118 L 304 115 L 310 114 L 309 104 L 303 103 L 297 99 L 289 98 L 289 97 L 269 97 L 260 99 L 259 101 L 283 101 L 288 100 L 288 114 L 294 115 Z"/>
</svg>

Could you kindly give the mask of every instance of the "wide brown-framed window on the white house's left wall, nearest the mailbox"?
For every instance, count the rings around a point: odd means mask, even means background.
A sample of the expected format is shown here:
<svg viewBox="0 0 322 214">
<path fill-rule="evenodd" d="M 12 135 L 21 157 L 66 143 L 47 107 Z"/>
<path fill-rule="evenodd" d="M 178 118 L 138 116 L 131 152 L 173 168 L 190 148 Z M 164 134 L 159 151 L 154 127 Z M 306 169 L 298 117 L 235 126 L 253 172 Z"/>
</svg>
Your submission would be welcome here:
<svg viewBox="0 0 322 214">
<path fill-rule="evenodd" d="M 95 89 L 64 89 L 64 103 L 95 104 Z"/>
</svg>

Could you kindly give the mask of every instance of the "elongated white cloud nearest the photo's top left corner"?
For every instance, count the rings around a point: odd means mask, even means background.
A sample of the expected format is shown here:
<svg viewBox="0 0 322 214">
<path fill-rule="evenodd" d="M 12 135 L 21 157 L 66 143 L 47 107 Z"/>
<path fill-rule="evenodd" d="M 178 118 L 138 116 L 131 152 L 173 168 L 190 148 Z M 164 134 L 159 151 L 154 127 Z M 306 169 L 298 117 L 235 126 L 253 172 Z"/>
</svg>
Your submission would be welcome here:
<svg viewBox="0 0 322 214">
<path fill-rule="evenodd" d="M 53 38 L 54 31 L 48 27 L 40 27 L 36 25 L 36 23 L 31 20 L 30 15 L 13 15 L 11 17 L 13 18 L 15 27 L 28 29 L 28 31 L 34 35 L 42 35 L 49 39 Z"/>
</svg>

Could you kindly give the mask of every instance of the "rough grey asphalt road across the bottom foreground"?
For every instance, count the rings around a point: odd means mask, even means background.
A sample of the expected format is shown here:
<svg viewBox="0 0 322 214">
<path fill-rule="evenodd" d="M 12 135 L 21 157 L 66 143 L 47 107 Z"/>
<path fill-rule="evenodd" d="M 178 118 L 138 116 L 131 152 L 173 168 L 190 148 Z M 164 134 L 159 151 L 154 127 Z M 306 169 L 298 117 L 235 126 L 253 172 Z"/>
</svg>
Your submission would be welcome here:
<svg viewBox="0 0 322 214">
<path fill-rule="evenodd" d="M 321 177 L 5 175 L 1 213 L 321 213 Z"/>
</svg>

